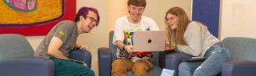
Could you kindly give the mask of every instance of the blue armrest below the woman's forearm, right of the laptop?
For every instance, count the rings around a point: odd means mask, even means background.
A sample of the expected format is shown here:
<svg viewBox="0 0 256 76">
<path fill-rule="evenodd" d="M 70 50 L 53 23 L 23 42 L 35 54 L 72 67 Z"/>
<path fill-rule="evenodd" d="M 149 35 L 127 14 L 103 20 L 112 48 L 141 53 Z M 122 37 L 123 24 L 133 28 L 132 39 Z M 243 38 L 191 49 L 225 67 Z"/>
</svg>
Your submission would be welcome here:
<svg viewBox="0 0 256 76">
<path fill-rule="evenodd" d="M 163 56 L 162 53 L 165 53 L 165 55 Z M 175 71 L 173 76 L 177 76 L 179 64 L 182 63 L 183 60 L 186 60 L 189 58 L 191 58 L 191 55 L 188 55 L 187 53 L 184 53 L 184 52 L 176 52 L 176 51 L 161 52 L 160 63 L 162 67 Z"/>
</svg>

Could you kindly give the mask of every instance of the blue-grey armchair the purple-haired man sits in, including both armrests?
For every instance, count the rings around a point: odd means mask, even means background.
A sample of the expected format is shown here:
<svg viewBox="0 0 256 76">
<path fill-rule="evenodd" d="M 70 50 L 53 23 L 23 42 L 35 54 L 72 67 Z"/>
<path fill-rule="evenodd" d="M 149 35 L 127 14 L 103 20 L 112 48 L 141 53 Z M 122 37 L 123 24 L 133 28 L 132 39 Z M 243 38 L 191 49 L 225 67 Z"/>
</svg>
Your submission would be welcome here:
<svg viewBox="0 0 256 76">
<path fill-rule="evenodd" d="M 83 60 L 91 67 L 90 52 L 72 51 L 69 57 Z M 32 46 L 24 36 L 0 34 L 0 75 L 54 76 L 54 63 L 49 59 L 35 57 Z"/>
</svg>

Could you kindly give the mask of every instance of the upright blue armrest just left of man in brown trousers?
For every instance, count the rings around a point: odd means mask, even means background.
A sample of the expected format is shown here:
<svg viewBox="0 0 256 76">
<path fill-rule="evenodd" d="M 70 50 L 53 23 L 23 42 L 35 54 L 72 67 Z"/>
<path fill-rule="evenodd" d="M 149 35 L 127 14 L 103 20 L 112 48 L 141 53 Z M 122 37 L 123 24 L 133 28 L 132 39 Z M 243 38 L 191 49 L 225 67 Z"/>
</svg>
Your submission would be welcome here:
<svg viewBox="0 0 256 76">
<path fill-rule="evenodd" d="M 109 48 L 98 48 L 98 74 L 99 76 L 110 76 L 111 52 Z"/>
</svg>

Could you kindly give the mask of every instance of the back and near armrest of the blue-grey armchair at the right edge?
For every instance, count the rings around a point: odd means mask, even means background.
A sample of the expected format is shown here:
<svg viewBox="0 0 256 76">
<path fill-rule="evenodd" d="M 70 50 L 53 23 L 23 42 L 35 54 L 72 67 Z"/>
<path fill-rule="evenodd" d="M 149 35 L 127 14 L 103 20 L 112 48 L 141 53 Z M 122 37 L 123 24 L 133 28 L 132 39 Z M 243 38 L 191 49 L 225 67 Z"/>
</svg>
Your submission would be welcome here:
<svg viewBox="0 0 256 76">
<path fill-rule="evenodd" d="M 256 75 L 256 39 L 224 38 L 222 41 L 230 53 L 230 62 L 224 63 L 222 76 Z"/>
</svg>

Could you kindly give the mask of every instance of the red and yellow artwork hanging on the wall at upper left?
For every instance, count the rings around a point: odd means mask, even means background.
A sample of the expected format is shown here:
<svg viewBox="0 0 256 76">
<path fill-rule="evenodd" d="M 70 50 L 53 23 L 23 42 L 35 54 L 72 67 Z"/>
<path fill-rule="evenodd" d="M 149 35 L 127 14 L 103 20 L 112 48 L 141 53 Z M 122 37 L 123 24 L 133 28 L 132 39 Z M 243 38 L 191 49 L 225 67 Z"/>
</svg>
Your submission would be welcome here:
<svg viewBox="0 0 256 76">
<path fill-rule="evenodd" d="M 0 0 L 0 34 L 45 35 L 75 15 L 76 0 Z"/>
</svg>

